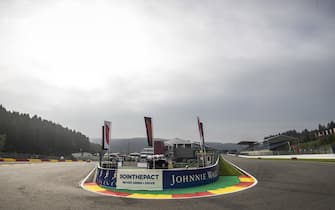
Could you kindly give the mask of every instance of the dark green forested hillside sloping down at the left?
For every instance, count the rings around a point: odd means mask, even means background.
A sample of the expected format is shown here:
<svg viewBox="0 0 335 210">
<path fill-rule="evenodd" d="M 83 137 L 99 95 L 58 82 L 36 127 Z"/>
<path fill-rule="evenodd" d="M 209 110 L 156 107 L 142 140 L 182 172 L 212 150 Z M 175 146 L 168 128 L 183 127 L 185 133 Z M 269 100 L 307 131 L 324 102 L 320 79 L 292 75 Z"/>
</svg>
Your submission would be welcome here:
<svg viewBox="0 0 335 210">
<path fill-rule="evenodd" d="M 98 152 L 84 134 L 29 114 L 7 111 L 0 105 L 0 152 L 69 155 Z"/>
</svg>

